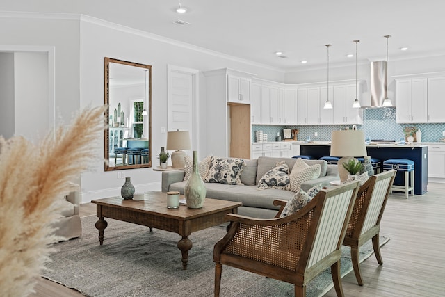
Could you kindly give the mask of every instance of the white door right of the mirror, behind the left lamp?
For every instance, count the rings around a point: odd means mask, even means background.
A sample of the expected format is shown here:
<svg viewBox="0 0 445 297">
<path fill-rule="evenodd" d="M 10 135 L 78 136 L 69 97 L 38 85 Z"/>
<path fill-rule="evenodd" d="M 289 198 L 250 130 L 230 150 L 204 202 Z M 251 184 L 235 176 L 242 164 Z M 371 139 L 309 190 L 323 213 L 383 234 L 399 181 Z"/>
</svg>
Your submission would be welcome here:
<svg viewBox="0 0 445 297">
<path fill-rule="evenodd" d="M 193 148 L 197 148 L 197 135 L 199 135 L 197 73 L 198 70 L 168 65 L 167 129 L 188 131 Z"/>
</svg>

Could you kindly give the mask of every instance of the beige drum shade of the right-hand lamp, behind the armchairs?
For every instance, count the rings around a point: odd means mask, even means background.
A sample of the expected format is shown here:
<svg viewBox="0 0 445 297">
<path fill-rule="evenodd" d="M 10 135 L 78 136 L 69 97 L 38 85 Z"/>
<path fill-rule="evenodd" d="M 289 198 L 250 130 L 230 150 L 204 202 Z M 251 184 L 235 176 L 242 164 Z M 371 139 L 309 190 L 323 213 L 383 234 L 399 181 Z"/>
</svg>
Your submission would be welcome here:
<svg viewBox="0 0 445 297">
<path fill-rule="evenodd" d="M 362 130 L 332 131 L 331 156 L 366 156 Z"/>
</svg>

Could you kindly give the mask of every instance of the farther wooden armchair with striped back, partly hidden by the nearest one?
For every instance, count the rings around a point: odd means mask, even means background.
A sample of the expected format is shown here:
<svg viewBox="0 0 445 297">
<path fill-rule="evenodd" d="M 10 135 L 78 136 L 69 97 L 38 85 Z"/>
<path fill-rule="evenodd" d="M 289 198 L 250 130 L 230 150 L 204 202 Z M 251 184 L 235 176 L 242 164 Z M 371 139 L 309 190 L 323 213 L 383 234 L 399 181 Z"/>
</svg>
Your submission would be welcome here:
<svg viewBox="0 0 445 297">
<path fill-rule="evenodd" d="M 344 246 L 350 246 L 355 278 L 360 286 L 363 285 L 360 272 L 359 248 L 366 241 L 372 239 L 377 262 L 383 265 L 380 254 L 380 220 L 387 204 L 391 186 L 396 177 L 396 170 L 390 170 L 378 175 L 372 175 L 360 188 L 355 200 L 353 214 L 346 229 Z"/>
</svg>

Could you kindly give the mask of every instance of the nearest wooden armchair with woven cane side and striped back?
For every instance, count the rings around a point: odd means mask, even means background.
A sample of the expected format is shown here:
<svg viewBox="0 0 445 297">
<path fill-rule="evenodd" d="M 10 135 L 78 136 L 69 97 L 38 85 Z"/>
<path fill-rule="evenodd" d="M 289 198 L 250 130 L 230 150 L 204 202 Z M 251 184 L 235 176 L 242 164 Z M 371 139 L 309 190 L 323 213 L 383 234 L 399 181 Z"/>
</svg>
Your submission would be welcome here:
<svg viewBox="0 0 445 297">
<path fill-rule="evenodd" d="M 213 249 L 215 296 L 220 294 L 223 265 L 294 284 L 295 296 L 305 296 L 307 282 L 331 267 L 337 296 L 343 296 L 341 243 L 358 188 L 355 181 L 323 189 L 300 211 L 283 218 L 227 214 L 227 234 Z"/>
</svg>

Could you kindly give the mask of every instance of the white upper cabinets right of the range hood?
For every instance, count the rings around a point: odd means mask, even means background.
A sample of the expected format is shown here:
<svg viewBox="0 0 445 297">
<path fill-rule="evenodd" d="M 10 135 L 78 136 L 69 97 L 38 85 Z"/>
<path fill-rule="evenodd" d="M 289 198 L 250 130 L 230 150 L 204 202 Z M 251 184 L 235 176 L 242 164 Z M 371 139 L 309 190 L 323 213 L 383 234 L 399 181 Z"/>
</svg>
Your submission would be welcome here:
<svg viewBox="0 0 445 297">
<path fill-rule="evenodd" d="M 445 77 L 396 79 L 398 123 L 444 122 Z"/>
</svg>

